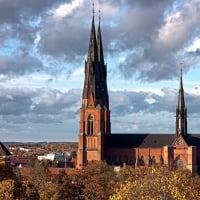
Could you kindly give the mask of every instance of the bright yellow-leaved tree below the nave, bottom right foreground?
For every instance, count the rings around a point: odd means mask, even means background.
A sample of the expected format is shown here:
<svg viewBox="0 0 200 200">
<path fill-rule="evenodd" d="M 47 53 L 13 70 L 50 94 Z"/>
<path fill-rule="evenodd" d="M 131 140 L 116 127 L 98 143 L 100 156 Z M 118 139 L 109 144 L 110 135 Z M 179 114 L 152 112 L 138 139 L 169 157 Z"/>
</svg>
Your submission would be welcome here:
<svg viewBox="0 0 200 200">
<path fill-rule="evenodd" d="M 121 184 L 109 200 L 199 200 L 200 178 L 187 171 L 171 172 L 167 168 L 133 171 L 131 179 Z"/>
</svg>

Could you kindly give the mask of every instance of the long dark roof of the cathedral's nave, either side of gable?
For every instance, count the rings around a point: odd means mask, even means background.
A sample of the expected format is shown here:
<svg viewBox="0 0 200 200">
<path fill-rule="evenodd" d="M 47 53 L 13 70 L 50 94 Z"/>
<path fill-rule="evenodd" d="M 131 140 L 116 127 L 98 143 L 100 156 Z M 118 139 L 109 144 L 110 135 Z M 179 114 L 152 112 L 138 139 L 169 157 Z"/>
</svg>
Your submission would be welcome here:
<svg viewBox="0 0 200 200">
<path fill-rule="evenodd" d="M 158 148 L 171 146 L 176 134 L 109 134 L 107 146 L 110 148 Z M 188 135 L 186 139 L 189 146 L 200 147 L 200 134 Z"/>
</svg>

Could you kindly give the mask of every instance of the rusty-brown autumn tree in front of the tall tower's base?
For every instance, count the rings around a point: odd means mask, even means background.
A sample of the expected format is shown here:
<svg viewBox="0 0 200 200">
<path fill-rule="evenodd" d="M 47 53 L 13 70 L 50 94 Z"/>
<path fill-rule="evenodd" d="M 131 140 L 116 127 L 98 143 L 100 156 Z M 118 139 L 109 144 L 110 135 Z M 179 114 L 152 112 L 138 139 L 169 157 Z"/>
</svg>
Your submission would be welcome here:
<svg viewBox="0 0 200 200">
<path fill-rule="evenodd" d="M 115 177 L 113 167 L 102 161 L 88 163 L 72 174 L 60 171 L 53 181 L 56 184 L 53 200 L 107 200 Z"/>
</svg>

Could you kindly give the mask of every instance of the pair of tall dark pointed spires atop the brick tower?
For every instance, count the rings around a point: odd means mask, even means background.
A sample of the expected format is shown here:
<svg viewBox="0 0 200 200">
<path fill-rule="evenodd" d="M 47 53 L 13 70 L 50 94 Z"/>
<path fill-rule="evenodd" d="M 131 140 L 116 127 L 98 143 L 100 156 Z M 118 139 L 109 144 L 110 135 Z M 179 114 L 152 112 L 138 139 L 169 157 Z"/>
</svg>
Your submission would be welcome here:
<svg viewBox="0 0 200 200">
<path fill-rule="evenodd" d="M 106 106 L 107 108 L 109 107 L 107 90 L 107 69 L 106 65 L 104 64 L 100 19 L 96 39 L 94 23 L 94 4 L 88 57 L 85 62 L 85 80 L 82 97 L 83 107 L 88 106 L 91 95 L 94 98 L 94 106 L 100 104 L 101 106 Z"/>
</svg>

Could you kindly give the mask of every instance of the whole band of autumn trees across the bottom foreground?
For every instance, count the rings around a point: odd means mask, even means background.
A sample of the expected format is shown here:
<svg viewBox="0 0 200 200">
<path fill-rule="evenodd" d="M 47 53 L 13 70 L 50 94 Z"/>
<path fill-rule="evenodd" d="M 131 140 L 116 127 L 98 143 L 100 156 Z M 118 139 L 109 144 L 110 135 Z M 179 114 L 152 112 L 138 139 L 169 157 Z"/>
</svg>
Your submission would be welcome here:
<svg viewBox="0 0 200 200">
<path fill-rule="evenodd" d="M 103 161 L 53 175 L 38 162 L 28 177 L 0 166 L 0 199 L 14 200 L 200 200 L 200 177 L 187 170 L 124 166 L 115 172 Z"/>
</svg>

